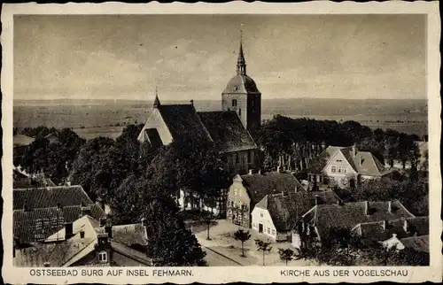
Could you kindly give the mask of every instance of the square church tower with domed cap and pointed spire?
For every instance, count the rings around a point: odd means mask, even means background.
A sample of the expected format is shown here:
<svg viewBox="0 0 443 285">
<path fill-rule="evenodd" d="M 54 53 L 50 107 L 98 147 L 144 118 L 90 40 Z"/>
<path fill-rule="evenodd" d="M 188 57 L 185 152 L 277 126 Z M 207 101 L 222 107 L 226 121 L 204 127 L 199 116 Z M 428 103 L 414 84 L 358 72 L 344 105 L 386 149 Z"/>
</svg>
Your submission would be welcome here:
<svg viewBox="0 0 443 285">
<path fill-rule="evenodd" d="M 223 111 L 237 112 L 249 134 L 256 134 L 261 121 L 261 93 L 253 79 L 246 74 L 242 37 L 237 58 L 237 74 L 221 93 L 221 108 Z"/>
</svg>

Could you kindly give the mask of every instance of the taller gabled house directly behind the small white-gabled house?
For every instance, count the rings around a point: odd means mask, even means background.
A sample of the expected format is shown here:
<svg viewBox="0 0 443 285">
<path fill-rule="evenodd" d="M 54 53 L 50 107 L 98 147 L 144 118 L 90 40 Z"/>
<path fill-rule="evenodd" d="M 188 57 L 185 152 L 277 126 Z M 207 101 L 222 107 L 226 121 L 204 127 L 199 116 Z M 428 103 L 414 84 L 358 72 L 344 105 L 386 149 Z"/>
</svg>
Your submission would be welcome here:
<svg viewBox="0 0 443 285">
<path fill-rule="evenodd" d="M 237 174 L 228 189 L 226 217 L 236 225 L 251 227 L 251 212 L 264 196 L 294 191 L 306 189 L 291 173 Z"/>
</svg>

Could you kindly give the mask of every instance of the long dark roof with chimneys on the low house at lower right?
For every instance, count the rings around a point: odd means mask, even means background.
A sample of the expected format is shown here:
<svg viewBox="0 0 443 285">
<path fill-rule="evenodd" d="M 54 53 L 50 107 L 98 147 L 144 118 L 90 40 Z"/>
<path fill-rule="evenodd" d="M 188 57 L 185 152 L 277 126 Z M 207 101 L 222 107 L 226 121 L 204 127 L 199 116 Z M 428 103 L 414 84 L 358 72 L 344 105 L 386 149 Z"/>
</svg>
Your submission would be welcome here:
<svg viewBox="0 0 443 285">
<path fill-rule="evenodd" d="M 389 206 L 391 204 L 391 207 Z M 389 211 L 391 208 L 391 212 Z M 412 218 L 413 214 L 398 200 L 383 202 L 353 202 L 346 204 L 321 204 L 305 214 L 303 220 L 315 226 L 321 237 L 333 227 L 353 229 L 360 223 Z"/>
</svg>

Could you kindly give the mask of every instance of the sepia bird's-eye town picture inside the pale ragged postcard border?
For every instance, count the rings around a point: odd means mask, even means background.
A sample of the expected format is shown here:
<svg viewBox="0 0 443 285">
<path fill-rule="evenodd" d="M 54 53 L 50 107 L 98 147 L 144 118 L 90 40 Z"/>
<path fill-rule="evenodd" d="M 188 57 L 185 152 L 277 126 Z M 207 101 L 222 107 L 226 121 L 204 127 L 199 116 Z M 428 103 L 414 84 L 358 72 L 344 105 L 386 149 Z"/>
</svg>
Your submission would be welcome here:
<svg viewBox="0 0 443 285">
<path fill-rule="evenodd" d="M 431 265 L 425 13 L 12 19 L 12 268 Z"/>
</svg>

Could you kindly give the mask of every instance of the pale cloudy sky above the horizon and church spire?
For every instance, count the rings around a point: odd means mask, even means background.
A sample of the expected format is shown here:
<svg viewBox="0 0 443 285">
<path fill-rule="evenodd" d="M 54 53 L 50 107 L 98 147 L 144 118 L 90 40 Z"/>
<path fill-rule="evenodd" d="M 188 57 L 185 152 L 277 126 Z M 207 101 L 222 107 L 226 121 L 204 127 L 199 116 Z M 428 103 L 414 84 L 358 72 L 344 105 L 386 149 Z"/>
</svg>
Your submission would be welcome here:
<svg viewBox="0 0 443 285">
<path fill-rule="evenodd" d="M 20 15 L 14 99 L 425 99 L 423 15 Z"/>
</svg>

